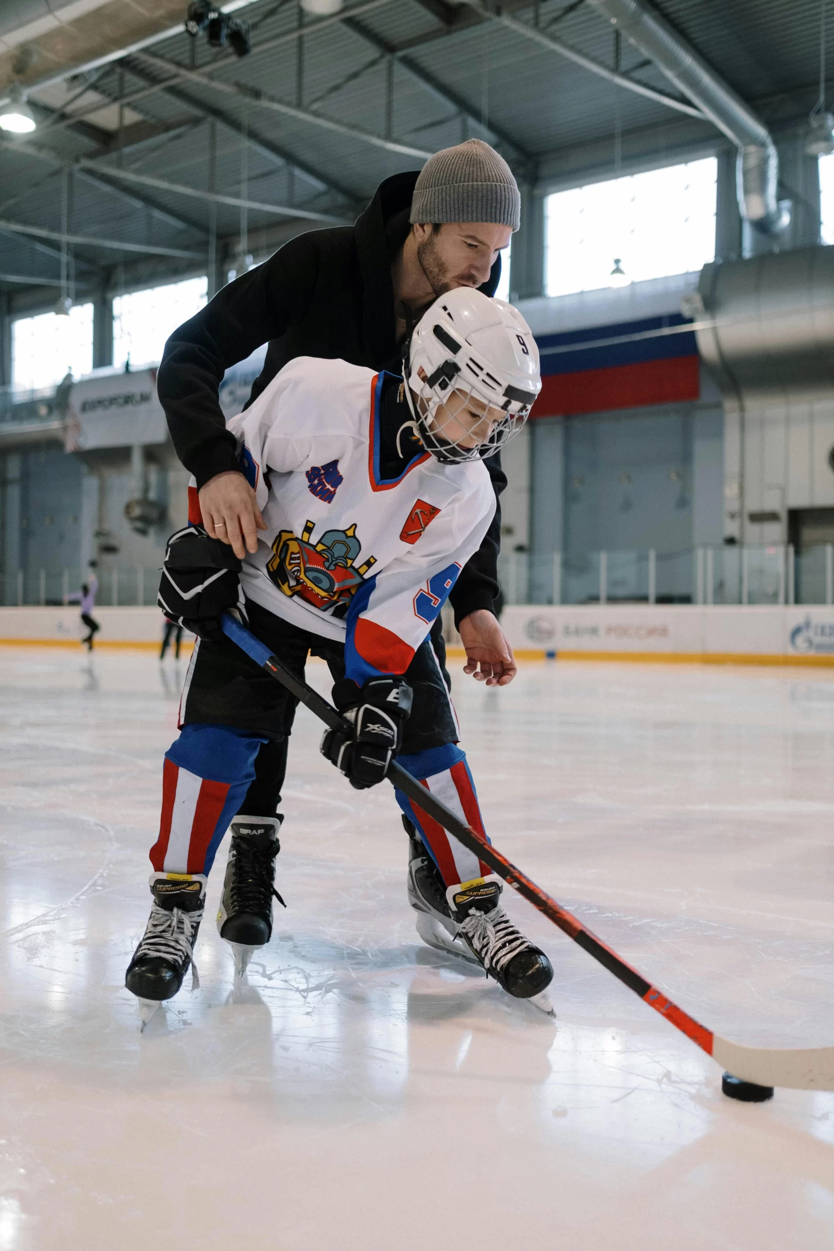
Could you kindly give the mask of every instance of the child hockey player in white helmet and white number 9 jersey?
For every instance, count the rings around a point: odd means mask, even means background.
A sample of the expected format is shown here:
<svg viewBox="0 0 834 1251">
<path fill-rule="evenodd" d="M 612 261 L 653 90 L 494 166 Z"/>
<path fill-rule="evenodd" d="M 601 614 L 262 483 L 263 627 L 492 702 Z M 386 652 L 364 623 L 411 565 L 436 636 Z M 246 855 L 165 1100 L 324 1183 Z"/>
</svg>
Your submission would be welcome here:
<svg viewBox="0 0 834 1251">
<path fill-rule="evenodd" d="M 418 323 L 404 378 L 300 357 L 229 423 L 266 530 L 243 567 L 199 515 L 169 540 L 160 605 L 199 642 L 181 733 L 165 756 L 150 919 L 126 972 L 141 1000 L 168 1000 L 183 983 L 229 823 L 218 927 L 239 970 L 271 936 L 273 897 L 284 902 L 274 887 L 283 817 L 273 788 L 271 802 L 259 802 L 254 761 L 271 741 L 285 766 L 296 701 L 223 634 L 226 608 L 239 605 L 299 676 L 308 653 L 326 661 L 351 732 L 329 731 L 321 751 L 354 787 L 381 782 L 396 756 L 486 838 L 426 636 L 493 518 L 483 458 L 521 428 L 539 389 L 538 350 L 520 314 L 459 288 Z M 420 936 L 476 961 L 510 995 L 540 993 L 550 962 L 501 909 L 500 881 L 396 797 Z"/>
</svg>

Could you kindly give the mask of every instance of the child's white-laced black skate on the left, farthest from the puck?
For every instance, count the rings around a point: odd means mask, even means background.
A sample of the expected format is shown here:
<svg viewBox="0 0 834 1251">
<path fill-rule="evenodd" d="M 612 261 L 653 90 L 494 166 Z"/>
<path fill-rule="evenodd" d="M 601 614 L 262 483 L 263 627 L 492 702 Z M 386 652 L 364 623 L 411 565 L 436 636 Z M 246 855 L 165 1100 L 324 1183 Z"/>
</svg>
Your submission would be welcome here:
<svg viewBox="0 0 834 1251">
<path fill-rule="evenodd" d="M 154 1008 L 176 995 L 189 965 L 194 963 L 205 883 L 203 873 L 153 873 L 150 877 L 154 903 L 143 940 L 125 973 L 125 986 L 145 1010 L 143 1028 Z M 196 967 L 194 985 L 199 985 Z"/>
</svg>

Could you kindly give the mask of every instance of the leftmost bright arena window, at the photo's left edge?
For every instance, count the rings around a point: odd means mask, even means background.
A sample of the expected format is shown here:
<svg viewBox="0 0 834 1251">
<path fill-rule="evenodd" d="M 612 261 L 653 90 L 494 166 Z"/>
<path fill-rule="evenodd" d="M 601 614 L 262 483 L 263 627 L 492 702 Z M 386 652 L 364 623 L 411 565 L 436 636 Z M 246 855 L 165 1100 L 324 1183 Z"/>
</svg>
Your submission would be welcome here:
<svg viewBox="0 0 834 1251">
<path fill-rule="evenodd" d="M 93 305 L 76 304 L 70 315 L 41 313 L 11 323 L 11 385 L 40 390 L 93 369 Z"/>
</svg>

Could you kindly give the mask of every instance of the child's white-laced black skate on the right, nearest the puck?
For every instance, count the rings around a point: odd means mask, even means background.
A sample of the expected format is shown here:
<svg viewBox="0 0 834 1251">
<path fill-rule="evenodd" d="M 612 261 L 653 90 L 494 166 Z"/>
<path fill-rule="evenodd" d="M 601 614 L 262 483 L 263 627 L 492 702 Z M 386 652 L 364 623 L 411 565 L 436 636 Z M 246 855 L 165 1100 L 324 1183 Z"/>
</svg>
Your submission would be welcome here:
<svg viewBox="0 0 834 1251">
<path fill-rule="evenodd" d="M 501 883 L 484 877 L 465 886 L 450 886 L 449 911 L 458 921 L 458 936 L 486 971 L 488 977 L 516 1000 L 531 1000 L 555 1016 L 545 988 L 553 966 L 545 953 L 525 938 L 499 904 Z"/>
</svg>

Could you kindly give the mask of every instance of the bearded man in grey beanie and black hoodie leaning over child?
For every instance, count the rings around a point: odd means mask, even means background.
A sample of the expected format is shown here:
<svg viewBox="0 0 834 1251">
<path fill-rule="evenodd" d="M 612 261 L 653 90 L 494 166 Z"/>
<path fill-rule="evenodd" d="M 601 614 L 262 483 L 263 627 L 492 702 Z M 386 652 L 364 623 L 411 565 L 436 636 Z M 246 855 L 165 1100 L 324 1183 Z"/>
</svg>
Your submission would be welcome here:
<svg viewBox="0 0 834 1251">
<path fill-rule="evenodd" d="M 258 530 L 265 528 L 218 400 L 225 370 L 269 344 L 249 403 L 299 355 L 399 373 L 410 325 L 438 295 L 455 286 L 494 294 L 500 249 L 519 218 L 520 196 L 509 165 L 488 144 L 471 139 L 435 154 L 419 175 L 385 179 L 354 226 L 291 239 L 174 332 L 159 369 L 159 398 L 176 453 L 196 479 L 210 537 L 243 557 L 244 549 L 256 550 Z M 485 464 L 499 495 L 506 485 L 499 457 Z M 515 676 L 513 651 L 495 617 L 499 545 L 496 508 L 479 552 L 449 597 L 466 651 L 464 673 L 488 686 L 505 686 Z M 439 626 L 431 641 L 448 681 Z M 249 818 L 274 817 L 285 762 L 286 741 L 261 748 L 241 808 Z M 413 844 L 410 877 L 415 856 L 423 857 L 419 841 Z"/>
</svg>

